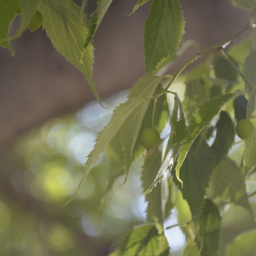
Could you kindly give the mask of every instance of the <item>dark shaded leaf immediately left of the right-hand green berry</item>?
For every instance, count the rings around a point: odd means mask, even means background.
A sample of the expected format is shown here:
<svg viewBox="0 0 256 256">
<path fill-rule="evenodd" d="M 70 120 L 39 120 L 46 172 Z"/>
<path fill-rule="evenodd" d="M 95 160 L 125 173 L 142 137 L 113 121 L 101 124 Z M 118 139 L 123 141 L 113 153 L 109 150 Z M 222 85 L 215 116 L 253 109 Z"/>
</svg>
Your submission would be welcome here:
<svg viewBox="0 0 256 256">
<path fill-rule="evenodd" d="M 215 158 L 215 165 L 218 165 L 229 153 L 230 147 L 235 142 L 235 125 L 233 120 L 230 119 L 230 115 L 221 111 L 216 127 L 217 134 L 211 148 Z"/>
</svg>

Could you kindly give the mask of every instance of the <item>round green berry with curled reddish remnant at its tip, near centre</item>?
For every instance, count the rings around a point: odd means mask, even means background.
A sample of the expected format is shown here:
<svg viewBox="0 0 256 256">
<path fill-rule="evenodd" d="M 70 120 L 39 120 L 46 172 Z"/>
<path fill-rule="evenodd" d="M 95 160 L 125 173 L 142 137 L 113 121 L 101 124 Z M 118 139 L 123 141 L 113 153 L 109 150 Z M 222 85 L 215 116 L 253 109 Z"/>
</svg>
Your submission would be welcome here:
<svg viewBox="0 0 256 256">
<path fill-rule="evenodd" d="M 160 143 L 160 134 L 154 128 L 147 128 L 142 132 L 140 142 L 147 150 L 155 148 Z"/>
</svg>

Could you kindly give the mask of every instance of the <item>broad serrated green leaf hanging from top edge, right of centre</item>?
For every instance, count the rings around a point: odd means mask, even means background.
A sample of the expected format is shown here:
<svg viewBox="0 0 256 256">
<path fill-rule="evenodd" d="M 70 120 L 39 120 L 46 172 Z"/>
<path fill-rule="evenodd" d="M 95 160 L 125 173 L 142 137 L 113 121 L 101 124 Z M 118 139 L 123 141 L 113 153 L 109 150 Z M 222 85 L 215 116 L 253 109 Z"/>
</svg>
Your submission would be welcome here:
<svg viewBox="0 0 256 256">
<path fill-rule="evenodd" d="M 183 14 L 178 0 L 154 0 L 145 20 L 144 49 L 146 72 L 176 51 L 183 36 Z"/>
</svg>

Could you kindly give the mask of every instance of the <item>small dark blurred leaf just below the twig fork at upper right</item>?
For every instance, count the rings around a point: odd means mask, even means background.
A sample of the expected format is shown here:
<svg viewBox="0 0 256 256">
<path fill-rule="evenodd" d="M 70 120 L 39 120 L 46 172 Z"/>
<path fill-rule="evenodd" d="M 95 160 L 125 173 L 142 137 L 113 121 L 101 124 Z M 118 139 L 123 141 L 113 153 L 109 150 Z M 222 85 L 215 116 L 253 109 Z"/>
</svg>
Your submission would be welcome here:
<svg viewBox="0 0 256 256">
<path fill-rule="evenodd" d="M 236 61 L 234 62 L 236 63 Z M 236 70 L 234 69 L 234 67 L 230 65 L 230 62 L 224 60 L 224 58 L 222 57 L 219 57 L 218 60 L 215 62 L 214 72 L 215 72 L 216 78 L 225 79 L 231 82 L 236 82 L 236 79 L 237 79 Z"/>
</svg>

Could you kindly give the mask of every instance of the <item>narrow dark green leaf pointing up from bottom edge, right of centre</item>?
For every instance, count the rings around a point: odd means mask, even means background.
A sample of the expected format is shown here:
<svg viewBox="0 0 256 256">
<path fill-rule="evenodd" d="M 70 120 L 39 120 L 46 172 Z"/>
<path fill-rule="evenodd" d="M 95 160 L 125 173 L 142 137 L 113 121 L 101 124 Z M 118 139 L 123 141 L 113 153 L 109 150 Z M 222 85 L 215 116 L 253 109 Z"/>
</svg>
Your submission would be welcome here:
<svg viewBox="0 0 256 256">
<path fill-rule="evenodd" d="M 200 235 L 203 242 L 201 256 L 216 256 L 218 254 L 220 229 L 221 218 L 218 207 L 210 199 L 206 199 L 200 222 Z"/>
</svg>

